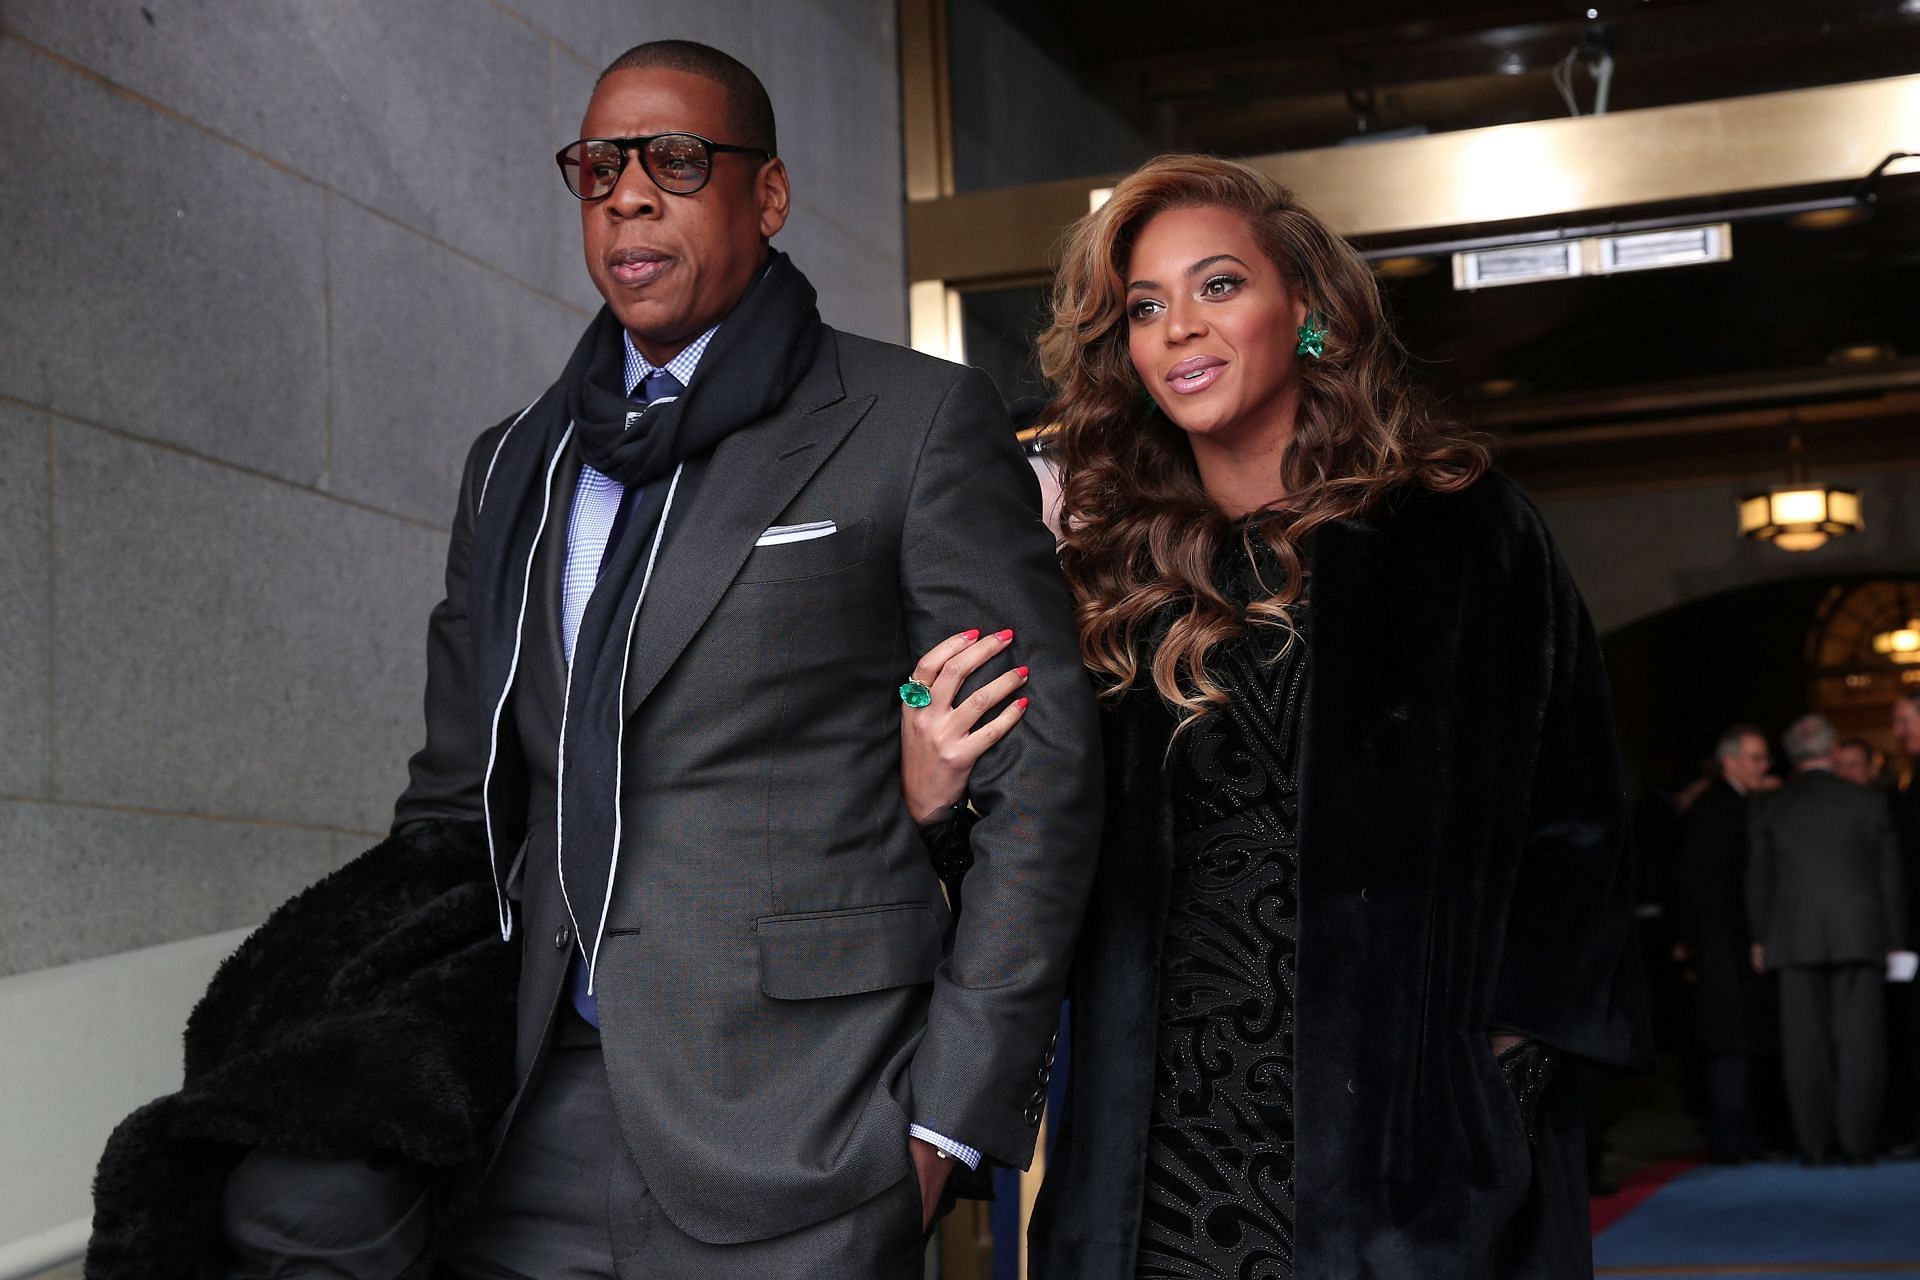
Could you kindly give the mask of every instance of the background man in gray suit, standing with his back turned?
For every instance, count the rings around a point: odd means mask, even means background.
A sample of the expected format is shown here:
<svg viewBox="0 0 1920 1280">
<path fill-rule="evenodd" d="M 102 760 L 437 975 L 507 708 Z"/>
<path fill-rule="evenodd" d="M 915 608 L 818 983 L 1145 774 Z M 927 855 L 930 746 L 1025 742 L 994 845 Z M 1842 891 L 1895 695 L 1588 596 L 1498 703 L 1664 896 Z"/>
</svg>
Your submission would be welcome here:
<svg viewBox="0 0 1920 1280">
<path fill-rule="evenodd" d="M 1834 775 L 1834 725 L 1786 733 L 1793 779 L 1753 819 L 1753 967 L 1780 975 L 1788 1109 L 1801 1155 L 1874 1157 L 1885 1100 L 1885 956 L 1901 944 L 1899 844 L 1887 798 Z"/>
</svg>

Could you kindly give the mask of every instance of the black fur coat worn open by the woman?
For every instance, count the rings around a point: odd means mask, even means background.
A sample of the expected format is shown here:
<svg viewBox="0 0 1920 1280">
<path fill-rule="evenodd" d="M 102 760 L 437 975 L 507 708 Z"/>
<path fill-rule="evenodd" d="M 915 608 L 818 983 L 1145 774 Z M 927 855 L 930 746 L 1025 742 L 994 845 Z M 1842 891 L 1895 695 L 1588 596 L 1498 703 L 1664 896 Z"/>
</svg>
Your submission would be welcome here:
<svg viewBox="0 0 1920 1280">
<path fill-rule="evenodd" d="M 1599 645 L 1500 476 L 1405 491 L 1313 545 L 1300 781 L 1294 1274 L 1592 1274 L 1571 1071 L 1530 1146 L 1494 1029 L 1651 1055 Z M 1037 1280 L 1133 1276 L 1173 848 L 1171 718 L 1108 716 L 1108 821 L 1069 988 Z"/>
</svg>

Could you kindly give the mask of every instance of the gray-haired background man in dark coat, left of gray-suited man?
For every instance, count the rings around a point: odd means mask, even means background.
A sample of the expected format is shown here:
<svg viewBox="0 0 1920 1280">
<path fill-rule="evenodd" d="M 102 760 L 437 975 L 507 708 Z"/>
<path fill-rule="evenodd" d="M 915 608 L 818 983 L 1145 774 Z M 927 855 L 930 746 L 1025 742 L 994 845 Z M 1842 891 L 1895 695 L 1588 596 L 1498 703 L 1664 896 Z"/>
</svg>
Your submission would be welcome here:
<svg viewBox="0 0 1920 1280">
<path fill-rule="evenodd" d="M 1693 1042 L 1707 1086 L 1707 1151 L 1738 1163 L 1761 1153 L 1755 1065 L 1776 1050 L 1774 994 L 1747 944 L 1747 819 L 1766 789 L 1766 737 L 1734 725 L 1715 747 L 1718 777 L 1688 808 L 1680 841 L 1680 921 L 1692 961 Z"/>
</svg>

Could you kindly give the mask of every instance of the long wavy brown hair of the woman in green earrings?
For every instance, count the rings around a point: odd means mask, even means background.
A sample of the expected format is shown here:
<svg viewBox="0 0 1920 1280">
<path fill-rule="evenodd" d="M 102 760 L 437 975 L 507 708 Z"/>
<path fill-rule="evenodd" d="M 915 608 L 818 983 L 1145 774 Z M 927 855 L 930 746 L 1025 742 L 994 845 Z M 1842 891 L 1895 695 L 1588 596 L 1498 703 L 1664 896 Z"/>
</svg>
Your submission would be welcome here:
<svg viewBox="0 0 1920 1280">
<path fill-rule="evenodd" d="M 1263 537 L 1273 549 L 1284 581 L 1244 614 L 1215 583 L 1233 526 L 1200 486 L 1183 432 L 1144 397 L 1127 353 L 1133 244 L 1154 215 L 1192 207 L 1244 217 L 1288 288 L 1329 330 L 1325 355 L 1296 368 L 1300 409 L 1279 476 L 1286 497 L 1246 526 L 1248 539 Z M 1292 334 L 1273 340 L 1294 344 Z M 1175 614 L 1154 649 L 1152 676 L 1179 708 L 1181 729 L 1227 700 L 1206 670 L 1215 645 L 1248 622 L 1290 628 L 1288 604 L 1306 589 L 1304 549 L 1313 530 L 1402 486 L 1463 489 L 1488 466 L 1486 445 L 1434 415 L 1409 384 L 1405 349 L 1352 246 L 1279 182 L 1227 159 L 1152 159 L 1073 225 L 1039 351 L 1056 388 L 1060 560 L 1081 656 L 1108 695 L 1131 689 L 1148 626 Z"/>
</svg>

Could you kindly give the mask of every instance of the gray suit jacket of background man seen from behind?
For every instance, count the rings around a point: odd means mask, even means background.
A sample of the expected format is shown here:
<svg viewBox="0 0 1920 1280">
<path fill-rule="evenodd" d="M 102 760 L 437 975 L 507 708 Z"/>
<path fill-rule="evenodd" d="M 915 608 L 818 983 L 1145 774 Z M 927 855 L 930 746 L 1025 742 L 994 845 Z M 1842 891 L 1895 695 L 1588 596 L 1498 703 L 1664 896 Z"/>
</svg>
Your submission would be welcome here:
<svg viewBox="0 0 1920 1280">
<path fill-rule="evenodd" d="M 1828 770 L 1799 773 L 1753 814 L 1747 912 L 1766 965 L 1880 960 L 1907 933 L 1887 798 Z"/>
</svg>

